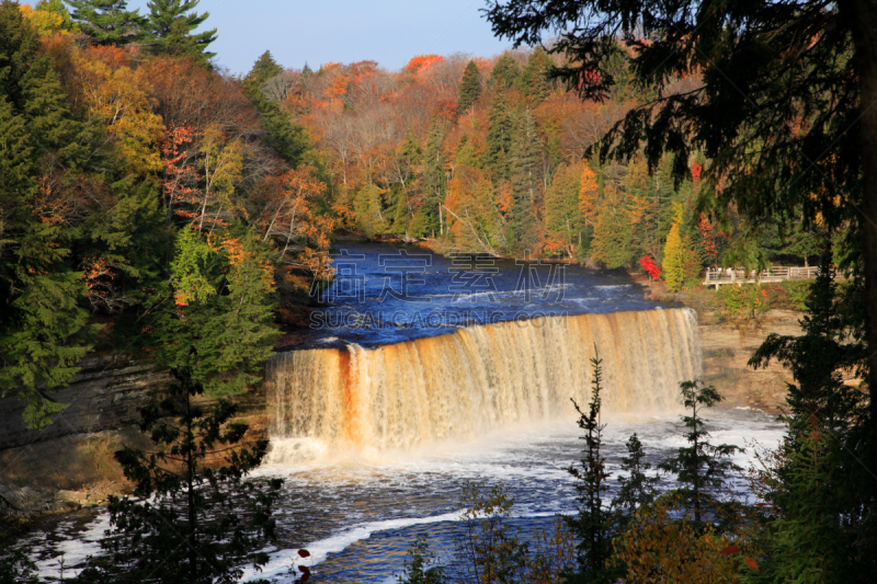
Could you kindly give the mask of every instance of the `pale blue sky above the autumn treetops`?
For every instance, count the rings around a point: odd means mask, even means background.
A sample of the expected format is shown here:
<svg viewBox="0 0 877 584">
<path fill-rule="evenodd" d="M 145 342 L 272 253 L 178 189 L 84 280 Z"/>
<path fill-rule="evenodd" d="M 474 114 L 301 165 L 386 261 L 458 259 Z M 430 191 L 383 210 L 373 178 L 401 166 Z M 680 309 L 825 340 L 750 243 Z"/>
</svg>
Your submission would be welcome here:
<svg viewBox="0 0 877 584">
<path fill-rule="evenodd" d="M 286 68 L 371 59 L 398 70 L 417 55 L 490 57 L 511 48 L 490 32 L 479 11 L 486 5 L 486 0 L 202 0 L 197 12 L 210 13 L 202 28 L 218 28 L 210 50 L 232 73 L 249 71 L 265 50 Z M 146 0 L 128 7 L 148 13 Z"/>
</svg>

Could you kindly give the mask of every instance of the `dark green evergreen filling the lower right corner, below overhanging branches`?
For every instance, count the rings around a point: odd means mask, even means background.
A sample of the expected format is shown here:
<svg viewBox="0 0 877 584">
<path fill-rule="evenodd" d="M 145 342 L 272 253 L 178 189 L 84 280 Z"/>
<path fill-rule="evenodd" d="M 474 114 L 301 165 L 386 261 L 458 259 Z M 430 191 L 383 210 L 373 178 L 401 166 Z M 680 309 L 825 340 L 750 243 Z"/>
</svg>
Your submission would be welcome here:
<svg viewBox="0 0 877 584">
<path fill-rule="evenodd" d="M 748 582 L 865 583 L 877 570 L 877 504 L 868 460 L 867 399 L 844 382 L 868 352 L 863 342 L 861 283 L 839 286 L 825 242 L 810 286 L 800 336 L 771 334 L 750 365 L 771 359 L 789 369 L 788 431 L 762 483 L 768 512 L 759 546 L 761 571 Z"/>
</svg>

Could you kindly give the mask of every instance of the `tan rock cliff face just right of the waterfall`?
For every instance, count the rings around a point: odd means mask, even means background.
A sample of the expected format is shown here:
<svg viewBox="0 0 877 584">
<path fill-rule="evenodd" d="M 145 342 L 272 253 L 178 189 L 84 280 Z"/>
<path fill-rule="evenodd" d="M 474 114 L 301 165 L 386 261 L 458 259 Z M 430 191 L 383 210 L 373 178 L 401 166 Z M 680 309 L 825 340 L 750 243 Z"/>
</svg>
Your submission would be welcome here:
<svg viewBox="0 0 877 584">
<path fill-rule="evenodd" d="M 798 323 L 800 312 L 771 310 L 758 322 L 703 324 L 711 320 L 709 317 L 698 317 L 702 322 L 704 381 L 719 390 L 726 405 L 778 412 L 786 403 L 786 383 L 791 381 L 788 370 L 775 362 L 771 362 L 767 368 L 755 370 L 747 362 L 771 333 L 802 334 Z"/>
</svg>

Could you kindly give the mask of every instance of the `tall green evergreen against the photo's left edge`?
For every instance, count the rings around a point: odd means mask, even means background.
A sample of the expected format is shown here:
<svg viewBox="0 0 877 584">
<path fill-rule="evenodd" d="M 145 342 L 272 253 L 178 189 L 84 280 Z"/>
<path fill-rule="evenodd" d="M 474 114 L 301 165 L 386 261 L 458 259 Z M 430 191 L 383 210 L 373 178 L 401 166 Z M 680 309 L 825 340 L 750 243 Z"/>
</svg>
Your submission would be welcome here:
<svg viewBox="0 0 877 584">
<path fill-rule="evenodd" d="M 44 220 L 35 178 L 49 154 L 76 153 L 81 126 L 15 3 L 0 4 L 0 394 L 24 399 L 25 421 L 41 427 L 65 408 L 50 391 L 72 380 L 90 330 L 67 263 L 73 232 Z"/>
</svg>

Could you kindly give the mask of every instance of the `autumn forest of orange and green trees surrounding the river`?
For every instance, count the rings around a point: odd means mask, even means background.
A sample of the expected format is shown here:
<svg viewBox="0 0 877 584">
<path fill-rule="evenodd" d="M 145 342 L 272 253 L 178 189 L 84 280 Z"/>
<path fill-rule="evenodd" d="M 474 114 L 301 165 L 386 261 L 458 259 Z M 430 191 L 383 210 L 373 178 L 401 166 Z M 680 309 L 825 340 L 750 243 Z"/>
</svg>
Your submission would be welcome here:
<svg viewBox="0 0 877 584">
<path fill-rule="evenodd" d="M 653 492 L 631 442 L 625 463 L 638 482 L 619 502 L 625 511 L 610 516 L 597 382 L 590 410 L 579 410 L 586 443 L 571 471 L 582 504 L 568 522 L 574 561 L 568 572 L 546 568 L 544 581 L 867 582 L 877 406 L 864 390 L 877 375 L 877 302 L 867 300 L 877 288 L 859 206 L 870 213 L 873 204 L 862 195 L 869 150 L 843 129 L 859 114 L 864 66 L 852 65 L 862 49 L 848 32 L 858 28 L 846 12 L 838 24 L 834 4 L 817 2 L 778 12 L 719 7 L 715 27 L 702 27 L 705 13 L 693 9 L 680 16 L 610 4 L 617 14 L 606 19 L 627 19 L 624 34 L 607 34 L 610 20 L 558 28 L 574 20 L 566 3 L 514 0 L 489 3 L 488 20 L 515 46 L 537 48 L 419 55 L 399 71 L 374 61 L 286 68 L 265 51 L 236 76 L 213 60 L 217 31 L 196 32 L 208 16 L 195 11 L 197 0 L 150 1 L 148 14 L 124 0 L 3 0 L 2 397 L 24 400 L 26 423 L 41 428 L 65 409 L 53 390 L 71 382 L 86 355 L 130 352 L 170 371 L 178 385 L 146 412 L 144 428 L 167 450 L 159 458 L 190 463 L 187 485 L 158 480 L 158 459 L 144 453 L 117 459 L 139 495 L 189 495 L 189 524 L 170 503 L 163 508 L 192 541 L 209 540 L 181 552 L 189 581 L 231 582 L 244 560 L 264 561 L 252 550 L 272 536 L 276 495 L 240 483 L 266 445 L 214 474 L 200 466 L 207 453 L 238 444 L 246 428 L 231 422 L 230 402 L 208 414 L 190 400 L 258 385 L 282 330 L 300 324 L 310 291 L 331 283 L 335 238 L 645 271 L 670 290 L 696 286 L 707 266 L 818 263 L 804 335 L 768 337 L 751 360 L 778 360 L 795 377 L 785 442 L 753 477 L 760 506 L 706 494 L 728 470 L 729 453 L 698 446 L 706 436 L 698 408 L 720 397 L 692 381 L 682 387 L 691 444 L 665 461 L 680 489 Z M 771 34 L 755 42 L 747 35 L 759 26 Z M 747 85 L 761 107 L 722 101 L 717 66 L 692 38 L 738 84 L 749 67 L 741 62 L 773 67 L 753 71 Z M 779 60 L 748 53 L 752 43 Z M 777 72 L 786 70 L 798 77 Z M 787 153 L 799 147 L 802 158 Z M 818 173 L 799 180 L 800 169 Z M 844 286 L 832 278 L 839 267 L 851 275 Z M 841 375 L 850 371 L 872 383 L 850 387 Z M 169 417 L 179 427 L 159 423 Z M 252 534 L 230 514 L 221 529 L 198 531 L 193 481 L 246 493 L 257 509 Z M 491 515 L 508 511 L 502 493 L 479 496 L 471 493 L 471 518 L 504 529 Z M 713 515 L 702 517 L 702 503 Z M 107 550 L 124 561 L 81 579 L 144 581 L 168 551 L 167 533 L 128 500 L 115 500 L 111 513 L 128 531 Z M 223 529 L 235 537 L 224 539 Z M 525 550 L 494 541 L 500 548 L 472 557 L 491 570 L 479 582 L 520 581 L 493 571 L 522 569 Z M 661 547 L 667 541 L 679 547 Z M 426 570 L 428 549 L 413 551 L 407 581 L 438 582 L 441 573 Z M 497 558 L 511 563 L 497 568 Z M 174 582 L 174 568 L 155 581 Z M 29 574 L 26 559 L 0 551 L 0 581 Z"/>
</svg>

